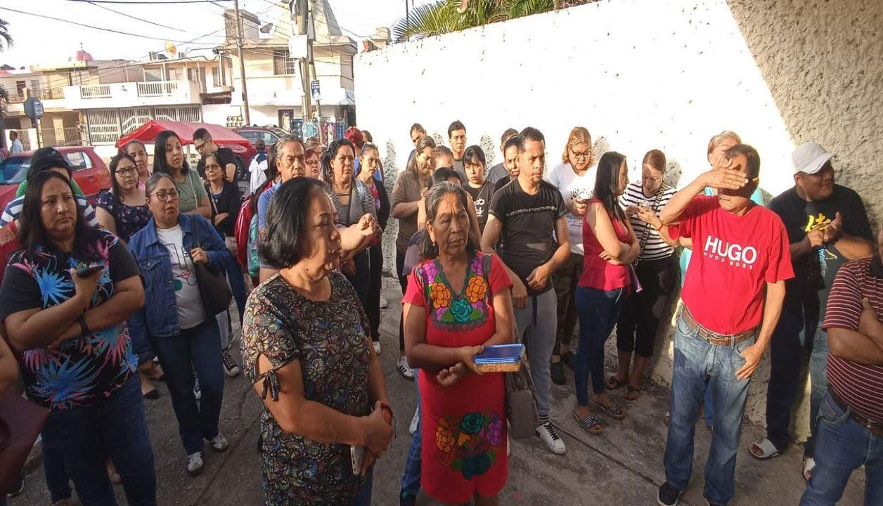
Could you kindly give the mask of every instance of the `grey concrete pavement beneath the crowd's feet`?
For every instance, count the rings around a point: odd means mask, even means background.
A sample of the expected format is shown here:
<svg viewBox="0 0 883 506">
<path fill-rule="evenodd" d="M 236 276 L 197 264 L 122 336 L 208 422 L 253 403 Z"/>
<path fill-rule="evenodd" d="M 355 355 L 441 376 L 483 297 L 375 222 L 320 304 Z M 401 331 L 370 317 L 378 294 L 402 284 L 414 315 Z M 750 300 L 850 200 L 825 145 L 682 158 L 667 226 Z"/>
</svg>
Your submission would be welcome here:
<svg viewBox="0 0 883 506">
<path fill-rule="evenodd" d="M 381 329 L 381 362 L 387 377 L 387 389 L 396 412 L 398 437 L 374 470 L 374 504 L 394 506 L 399 491 L 404 460 L 411 436 L 408 425 L 414 412 L 414 385 L 396 373 L 398 348 L 398 301 L 401 297 L 395 280 L 385 279 L 384 294 L 389 309 L 384 310 Z M 234 357 L 238 357 L 234 353 Z M 509 483 L 502 493 L 502 504 L 582 505 L 582 504 L 655 504 L 656 491 L 665 478 L 662 455 L 666 426 L 663 415 L 668 409 L 668 391 L 647 387 L 638 401 L 625 403 L 627 416 L 622 421 L 601 418 L 604 432 L 589 435 L 570 417 L 574 404 L 572 374 L 568 384 L 553 385 L 552 416 L 555 426 L 567 443 L 567 453 L 556 456 L 538 439 L 513 442 Z M 230 449 L 215 453 L 208 448 L 202 474 L 191 478 L 185 472 L 185 454 L 177 434 L 177 421 L 170 396 L 160 383 L 162 396 L 147 403 L 147 422 L 155 451 L 158 502 L 166 505 L 206 504 L 242 506 L 262 503 L 260 490 L 260 453 L 256 442 L 260 427 L 260 398 L 240 374 L 228 378 L 224 389 L 221 431 L 230 440 Z M 617 392 L 617 395 L 620 395 Z M 700 421 L 696 429 L 696 458 L 691 486 L 682 504 L 704 506 L 703 469 L 711 434 Z M 745 426 L 736 467 L 736 498 L 732 506 L 794 505 L 804 492 L 800 476 L 802 449 L 792 448 L 782 457 L 759 462 L 748 453 L 749 442 L 763 431 Z M 861 504 L 864 472 L 855 472 L 841 504 Z M 125 504 L 122 487 L 117 497 Z M 10 502 L 14 506 L 49 505 L 49 493 L 37 467 L 26 476 L 25 492 Z M 418 504 L 435 504 L 422 496 Z"/>
</svg>

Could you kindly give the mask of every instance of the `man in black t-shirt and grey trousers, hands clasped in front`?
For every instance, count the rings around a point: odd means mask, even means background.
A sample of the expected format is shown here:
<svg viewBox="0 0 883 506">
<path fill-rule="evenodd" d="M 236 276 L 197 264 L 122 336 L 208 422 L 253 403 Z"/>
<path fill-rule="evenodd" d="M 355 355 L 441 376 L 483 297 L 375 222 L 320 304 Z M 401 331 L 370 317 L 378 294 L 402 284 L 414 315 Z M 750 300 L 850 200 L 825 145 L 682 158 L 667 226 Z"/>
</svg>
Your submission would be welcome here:
<svg viewBox="0 0 883 506">
<path fill-rule="evenodd" d="M 561 193 L 543 180 L 546 141 L 539 130 L 525 128 L 517 139 L 518 178 L 494 193 L 481 250 L 495 253 L 501 237 L 502 261 L 512 281 L 512 302 L 519 341 L 527 358 L 537 395 L 537 435 L 557 454 L 564 441 L 549 422 L 551 376 L 549 359 L 555 346 L 558 301 L 551 276 L 570 256 L 567 209 Z"/>
</svg>

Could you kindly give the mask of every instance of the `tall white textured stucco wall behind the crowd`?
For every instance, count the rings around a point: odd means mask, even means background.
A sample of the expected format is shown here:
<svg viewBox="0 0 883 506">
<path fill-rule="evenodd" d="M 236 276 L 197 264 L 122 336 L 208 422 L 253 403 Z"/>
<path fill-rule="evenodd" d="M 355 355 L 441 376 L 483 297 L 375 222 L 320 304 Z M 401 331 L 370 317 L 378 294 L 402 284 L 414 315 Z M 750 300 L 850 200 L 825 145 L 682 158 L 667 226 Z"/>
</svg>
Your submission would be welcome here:
<svg viewBox="0 0 883 506">
<path fill-rule="evenodd" d="M 872 170 L 883 132 L 881 11 L 879 0 L 616 0 L 395 44 L 356 57 L 359 126 L 381 146 L 390 189 L 414 122 L 447 144 L 447 126 L 460 119 L 469 144 L 494 162 L 503 130 L 536 126 L 549 164 L 570 128 L 583 125 L 600 150 L 628 156 L 633 179 L 644 153 L 662 149 L 670 181 L 682 186 L 707 169 L 708 138 L 734 130 L 758 148 L 760 185 L 771 195 L 793 185 L 795 145 L 816 140 L 838 153 L 841 183 L 880 223 L 883 177 Z M 663 384 L 671 332 L 660 330 L 653 366 Z M 613 340 L 608 347 L 613 359 Z M 767 354 L 747 409 L 759 424 L 768 377 Z"/>
</svg>

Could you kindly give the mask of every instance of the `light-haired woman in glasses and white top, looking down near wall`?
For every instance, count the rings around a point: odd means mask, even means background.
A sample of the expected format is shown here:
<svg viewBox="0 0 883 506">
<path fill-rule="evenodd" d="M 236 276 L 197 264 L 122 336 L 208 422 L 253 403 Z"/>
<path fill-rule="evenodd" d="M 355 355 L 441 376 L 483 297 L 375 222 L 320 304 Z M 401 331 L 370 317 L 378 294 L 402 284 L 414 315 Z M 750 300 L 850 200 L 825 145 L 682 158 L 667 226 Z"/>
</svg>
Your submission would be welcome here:
<svg viewBox="0 0 883 506">
<path fill-rule="evenodd" d="M 563 385 L 564 366 L 573 369 L 570 336 L 577 325 L 577 282 L 583 274 L 583 216 L 592 199 L 595 173 L 598 170 L 592 152 L 592 135 L 582 126 L 574 127 L 564 146 L 562 162 L 549 171 L 547 181 L 558 188 L 567 208 L 567 230 L 570 232 L 570 257 L 552 274 L 558 296 L 558 331 L 552 350 L 549 372 L 556 385 Z"/>
</svg>

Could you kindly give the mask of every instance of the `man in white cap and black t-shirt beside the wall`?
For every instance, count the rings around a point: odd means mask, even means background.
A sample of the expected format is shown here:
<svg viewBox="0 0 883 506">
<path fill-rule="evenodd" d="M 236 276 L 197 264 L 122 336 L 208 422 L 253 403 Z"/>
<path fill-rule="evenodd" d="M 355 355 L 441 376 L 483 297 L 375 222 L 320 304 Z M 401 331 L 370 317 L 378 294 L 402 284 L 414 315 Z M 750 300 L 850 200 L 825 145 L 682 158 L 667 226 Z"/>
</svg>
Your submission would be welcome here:
<svg viewBox="0 0 883 506">
<path fill-rule="evenodd" d="M 780 455 L 791 440 L 791 408 L 801 366 L 808 354 L 812 383 L 810 428 L 825 393 L 827 336 L 819 328 L 837 270 L 847 261 L 872 255 L 872 230 L 858 193 L 834 184 L 834 167 L 824 147 L 807 142 L 791 155 L 794 182 L 769 208 L 788 230 L 795 277 L 786 283 L 785 303 L 771 345 L 772 370 L 766 391 L 766 438 L 752 442 L 751 455 Z M 813 441 L 804 447 L 804 479 L 815 464 Z"/>
</svg>

